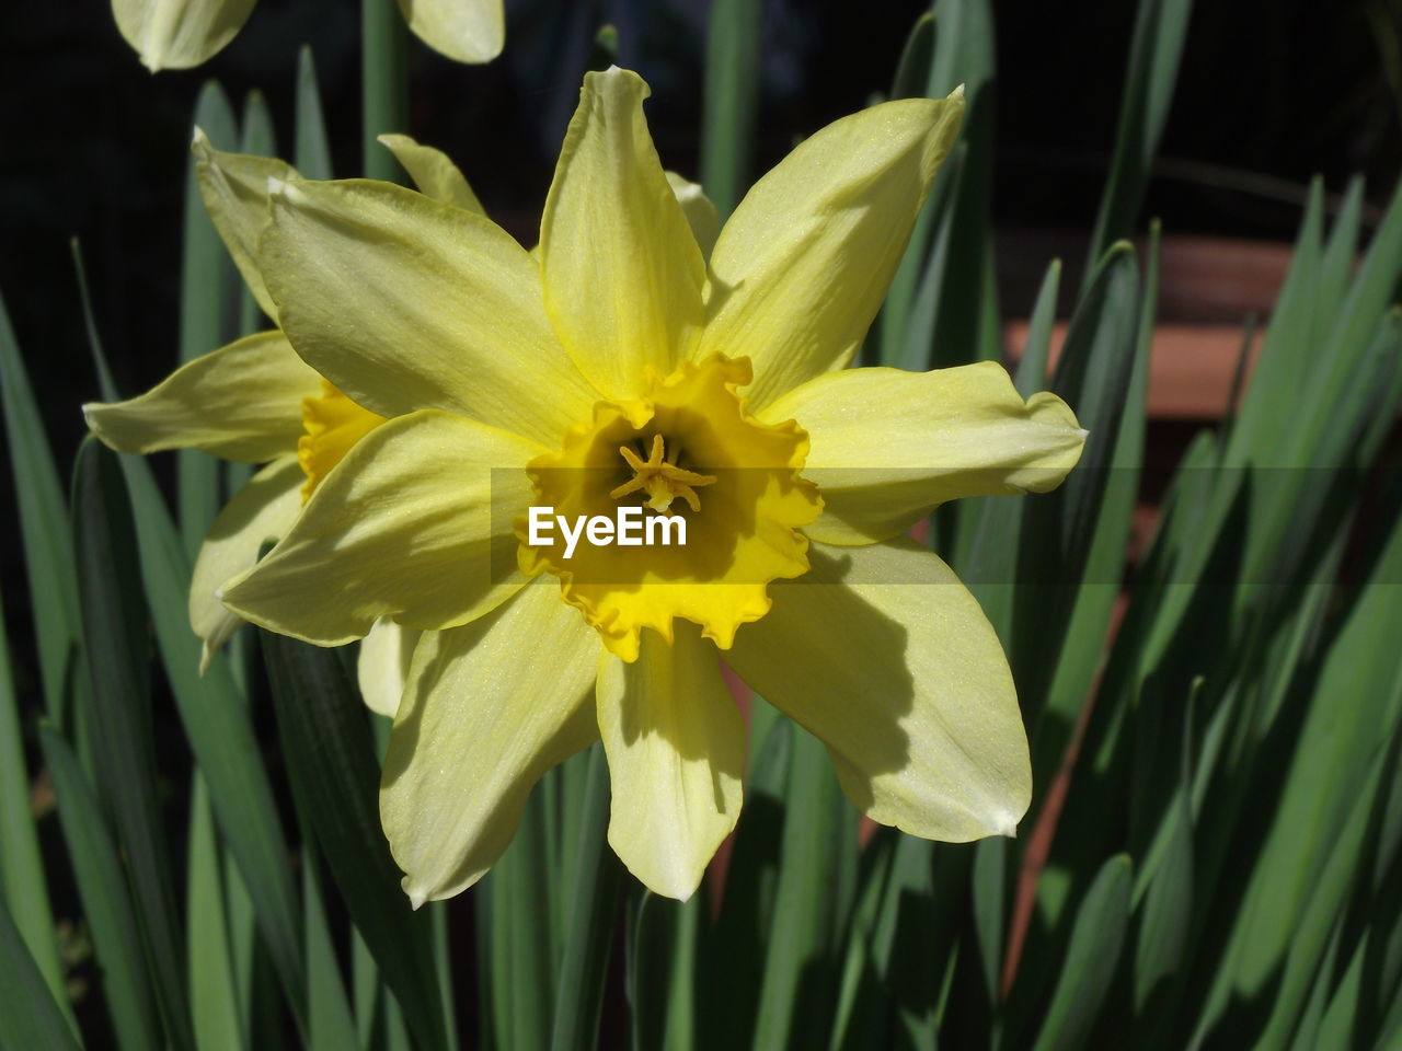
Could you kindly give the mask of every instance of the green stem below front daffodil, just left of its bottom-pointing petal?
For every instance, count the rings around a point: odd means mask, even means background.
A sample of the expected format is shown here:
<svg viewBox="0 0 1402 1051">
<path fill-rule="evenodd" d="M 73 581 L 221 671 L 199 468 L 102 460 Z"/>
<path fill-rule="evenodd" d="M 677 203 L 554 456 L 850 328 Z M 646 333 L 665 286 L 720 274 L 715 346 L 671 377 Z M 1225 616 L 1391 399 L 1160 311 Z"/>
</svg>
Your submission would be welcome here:
<svg viewBox="0 0 1402 1051">
<path fill-rule="evenodd" d="M 565 930 L 565 959 L 555 985 L 555 1024 L 551 1051 L 593 1048 L 599 1038 L 608 952 L 622 869 L 608 849 L 608 762 L 601 744 L 589 755 L 579 853 L 573 872 L 573 901 Z"/>
</svg>

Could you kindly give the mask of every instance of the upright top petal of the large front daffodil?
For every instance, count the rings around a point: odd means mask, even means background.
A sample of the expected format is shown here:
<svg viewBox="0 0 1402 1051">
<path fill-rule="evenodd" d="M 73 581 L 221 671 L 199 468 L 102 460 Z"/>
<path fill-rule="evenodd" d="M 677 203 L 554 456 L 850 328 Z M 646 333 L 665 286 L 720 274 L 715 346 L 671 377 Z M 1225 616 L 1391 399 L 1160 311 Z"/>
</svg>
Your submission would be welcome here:
<svg viewBox="0 0 1402 1051">
<path fill-rule="evenodd" d="M 540 226 L 545 310 L 614 398 L 666 376 L 701 328 L 705 262 L 652 146 L 637 73 L 586 73 Z"/>
</svg>

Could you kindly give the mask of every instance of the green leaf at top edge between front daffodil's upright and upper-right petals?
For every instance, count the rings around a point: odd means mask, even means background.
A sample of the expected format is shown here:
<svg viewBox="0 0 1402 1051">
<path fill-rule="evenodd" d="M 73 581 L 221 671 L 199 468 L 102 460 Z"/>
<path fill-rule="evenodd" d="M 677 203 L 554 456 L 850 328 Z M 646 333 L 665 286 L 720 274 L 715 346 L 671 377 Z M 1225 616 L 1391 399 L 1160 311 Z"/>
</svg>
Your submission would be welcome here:
<svg viewBox="0 0 1402 1051">
<path fill-rule="evenodd" d="M 750 185 L 760 94 L 760 0 L 712 0 L 701 107 L 701 185 L 721 221 Z"/>
</svg>

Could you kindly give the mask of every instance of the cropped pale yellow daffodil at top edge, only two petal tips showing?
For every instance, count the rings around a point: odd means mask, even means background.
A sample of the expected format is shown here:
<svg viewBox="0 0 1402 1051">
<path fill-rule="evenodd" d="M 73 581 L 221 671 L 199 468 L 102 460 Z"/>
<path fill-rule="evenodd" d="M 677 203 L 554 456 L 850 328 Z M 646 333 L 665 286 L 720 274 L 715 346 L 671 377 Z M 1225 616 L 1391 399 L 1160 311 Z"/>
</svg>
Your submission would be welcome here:
<svg viewBox="0 0 1402 1051">
<path fill-rule="evenodd" d="M 217 55 L 248 21 L 255 0 L 112 0 L 122 36 L 151 73 L 192 69 Z M 457 62 L 502 53 L 502 0 L 398 0 L 409 29 Z"/>
</svg>

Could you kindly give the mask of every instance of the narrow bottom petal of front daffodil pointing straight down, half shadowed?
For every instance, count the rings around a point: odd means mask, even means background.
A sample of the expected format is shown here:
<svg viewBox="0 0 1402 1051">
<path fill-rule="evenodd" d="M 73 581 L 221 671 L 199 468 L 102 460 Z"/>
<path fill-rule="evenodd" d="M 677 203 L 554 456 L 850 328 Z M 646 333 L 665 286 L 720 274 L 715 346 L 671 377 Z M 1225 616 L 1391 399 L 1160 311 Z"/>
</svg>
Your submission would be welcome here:
<svg viewBox="0 0 1402 1051">
<path fill-rule="evenodd" d="M 608 842 L 649 890 L 690 898 L 740 816 L 744 722 L 719 653 L 691 624 L 672 645 L 645 632 L 638 660 L 601 654 L 597 701 Z"/>
</svg>

